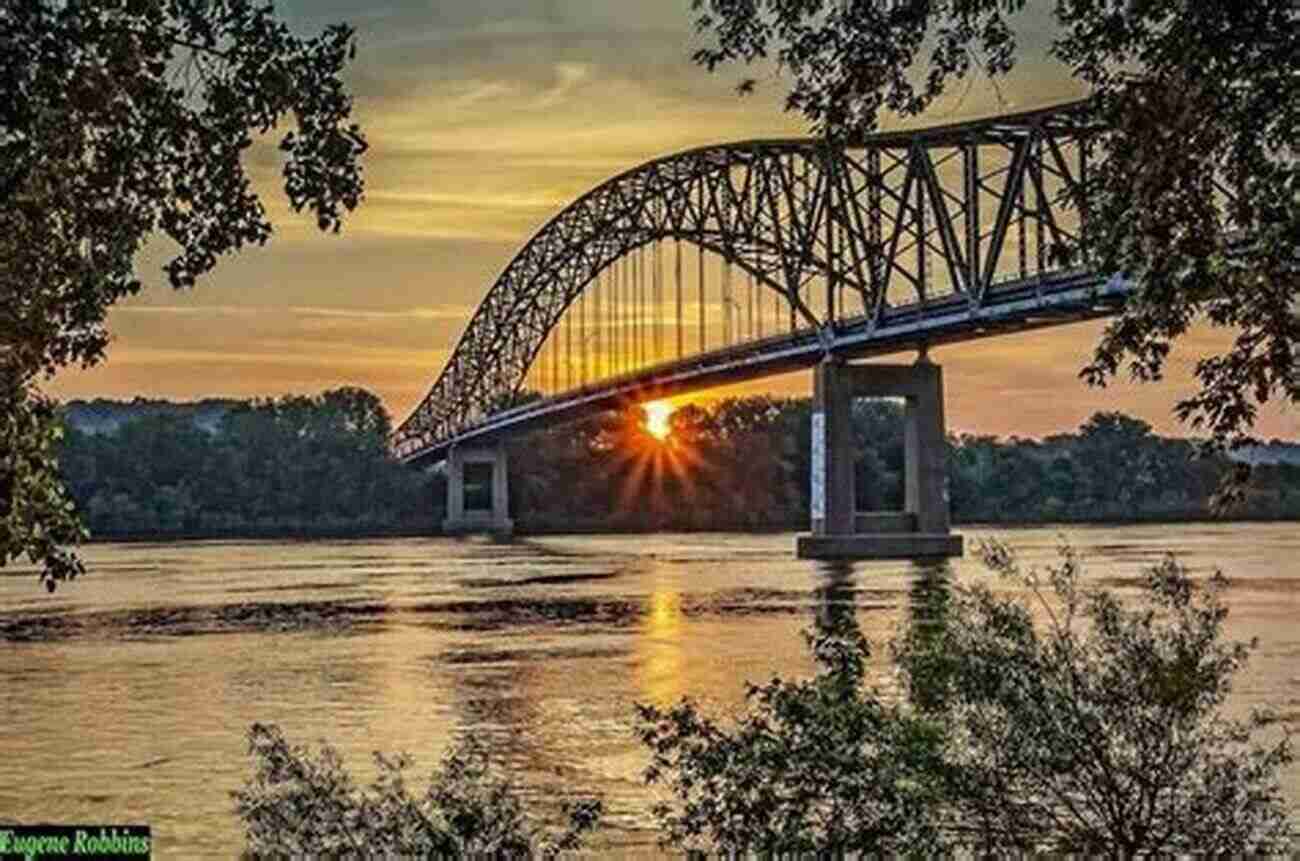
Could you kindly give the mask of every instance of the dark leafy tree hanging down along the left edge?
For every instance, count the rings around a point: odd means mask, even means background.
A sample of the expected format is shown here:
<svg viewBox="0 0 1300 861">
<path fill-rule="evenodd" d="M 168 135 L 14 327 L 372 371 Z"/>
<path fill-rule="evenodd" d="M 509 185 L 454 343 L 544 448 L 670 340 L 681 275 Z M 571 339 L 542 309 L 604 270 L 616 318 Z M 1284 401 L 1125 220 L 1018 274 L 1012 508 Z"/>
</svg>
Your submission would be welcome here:
<svg viewBox="0 0 1300 861">
<path fill-rule="evenodd" d="M 161 234 L 173 287 L 272 233 L 244 155 L 278 140 L 295 211 L 337 232 L 361 199 L 365 139 L 342 72 L 352 30 L 303 38 L 256 0 L 30 0 L 0 9 L 0 566 L 79 570 L 78 527 L 44 442 L 42 377 L 104 355 L 109 306 L 140 289 Z"/>
</svg>

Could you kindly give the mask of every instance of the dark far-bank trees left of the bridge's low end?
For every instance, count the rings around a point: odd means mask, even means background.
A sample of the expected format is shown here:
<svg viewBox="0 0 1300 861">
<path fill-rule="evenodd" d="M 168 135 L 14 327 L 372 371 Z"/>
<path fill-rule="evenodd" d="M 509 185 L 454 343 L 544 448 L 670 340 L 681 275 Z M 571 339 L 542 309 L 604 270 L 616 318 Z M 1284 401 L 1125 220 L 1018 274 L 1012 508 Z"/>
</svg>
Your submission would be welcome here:
<svg viewBox="0 0 1300 861">
<path fill-rule="evenodd" d="M 231 402 L 212 431 L 179 407 L 139 414 L 112 432 L 72 429 L 61 446 L 65 481 L 95 535 L 428 528 L 445 496 L 391 458 L 387 412 L 363 389 Z"/>
</svg>

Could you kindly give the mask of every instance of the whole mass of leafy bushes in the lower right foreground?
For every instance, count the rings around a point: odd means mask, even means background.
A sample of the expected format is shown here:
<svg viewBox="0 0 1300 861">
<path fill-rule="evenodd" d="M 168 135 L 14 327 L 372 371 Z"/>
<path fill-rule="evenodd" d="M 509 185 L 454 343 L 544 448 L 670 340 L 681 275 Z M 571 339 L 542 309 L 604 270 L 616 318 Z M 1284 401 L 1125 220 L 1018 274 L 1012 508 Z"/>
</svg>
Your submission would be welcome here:
<svg viewBox="0 0 1300 861">
<path fill-rule="evenodd" d="M 733 726 L 638 706 L 666 843 L 723 853 L 1286 852 L 1288 736 L 1221 708 L 1251 646 L 1222 639 L 1222 577 L 1171 559 L 1126 605 L 1071 551 L 1045 574 L 985 563 L 1036 600 L 937 589 L 893 645 L 901 702 L 868 688 L 853 611 L 809 636 L 803 682 L 749 688 Z M 852 590 L 850 590 L 852 594 Z M 852 600 L 850 600 L 852 601 Z M 852 606 L 852 603 L 850 603 Z M 1041 620 L 1045 616 L 1045 622 Z"/>
</svg>

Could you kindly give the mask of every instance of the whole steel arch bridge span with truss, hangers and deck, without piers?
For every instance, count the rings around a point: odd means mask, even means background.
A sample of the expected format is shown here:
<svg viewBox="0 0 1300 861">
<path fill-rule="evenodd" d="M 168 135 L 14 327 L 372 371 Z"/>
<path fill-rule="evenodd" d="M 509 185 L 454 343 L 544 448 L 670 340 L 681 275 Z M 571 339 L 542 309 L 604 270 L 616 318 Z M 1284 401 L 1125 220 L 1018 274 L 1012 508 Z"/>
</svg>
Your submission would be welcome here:
<svg viewBox="0 0 1300 861">
<path fill-rule="evenodd" d="M 827 355 L 1113 313 L 1130 287 L 1089 268 L 1083 246 L 1098 131 L 1071 103 L 842 147 L 708 146 L 628 170 L 506 267 L 394 450 L 438 460 Z"/>
</svg>

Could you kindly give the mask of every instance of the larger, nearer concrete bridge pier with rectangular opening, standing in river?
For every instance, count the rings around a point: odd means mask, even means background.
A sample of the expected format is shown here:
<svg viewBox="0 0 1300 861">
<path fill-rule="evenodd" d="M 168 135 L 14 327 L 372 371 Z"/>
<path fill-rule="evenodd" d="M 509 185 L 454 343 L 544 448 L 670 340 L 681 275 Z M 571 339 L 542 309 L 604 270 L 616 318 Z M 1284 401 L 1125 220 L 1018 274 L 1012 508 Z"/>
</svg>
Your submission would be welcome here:
<svg viewBox="0 0 1300 861">
<path fill-rule="evenodd" d="M 902 398 L 904 510 L 857 511 L 853 486 L 853 399 Z M 962 555 L 949 532 L 944 446 L 944 376 L 924 352 L 911 365 L 845 364 L 814 371 L 812 533 L 801 559 L 915 559 Z"/>
</svg>

